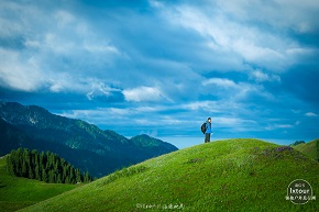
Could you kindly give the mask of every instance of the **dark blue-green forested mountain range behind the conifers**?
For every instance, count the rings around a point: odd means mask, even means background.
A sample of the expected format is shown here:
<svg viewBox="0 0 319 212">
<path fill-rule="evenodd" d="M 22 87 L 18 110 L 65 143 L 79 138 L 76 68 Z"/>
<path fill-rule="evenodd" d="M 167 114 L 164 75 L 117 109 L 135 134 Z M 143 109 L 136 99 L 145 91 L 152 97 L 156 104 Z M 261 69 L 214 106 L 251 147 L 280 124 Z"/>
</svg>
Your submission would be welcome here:
<svg viewBox="0 0 319 212">
<path fill-rule="evenodd" d="M 148 135 L 127 138 L 81 120 L 16 102 L 0 102 L 0 156 L 19 147 L 50 150 L 95 177 L 178 149 Z"/>
</svg>

